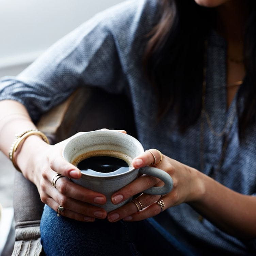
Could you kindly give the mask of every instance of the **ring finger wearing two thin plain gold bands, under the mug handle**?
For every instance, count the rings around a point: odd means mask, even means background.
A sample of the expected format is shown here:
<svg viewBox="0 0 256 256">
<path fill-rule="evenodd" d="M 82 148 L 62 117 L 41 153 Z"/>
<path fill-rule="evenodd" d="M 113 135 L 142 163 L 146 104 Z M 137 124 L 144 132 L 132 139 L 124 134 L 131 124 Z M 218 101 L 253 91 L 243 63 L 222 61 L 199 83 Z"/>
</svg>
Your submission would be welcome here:
<svg viewBox="0 0 256 256">
<path fill-rule="evenodd" d="M 132 214 L 137 214 L 140 210 L 148 207 L 158 199 L 159 195 L 142 194 L 139 197 L 134 198 L 132 200 L 133 202 L 131 201 L 126 205 L 110 212 L 108 214 L 108 220 L 109 222 L 116 222 Z"/>
</svg>

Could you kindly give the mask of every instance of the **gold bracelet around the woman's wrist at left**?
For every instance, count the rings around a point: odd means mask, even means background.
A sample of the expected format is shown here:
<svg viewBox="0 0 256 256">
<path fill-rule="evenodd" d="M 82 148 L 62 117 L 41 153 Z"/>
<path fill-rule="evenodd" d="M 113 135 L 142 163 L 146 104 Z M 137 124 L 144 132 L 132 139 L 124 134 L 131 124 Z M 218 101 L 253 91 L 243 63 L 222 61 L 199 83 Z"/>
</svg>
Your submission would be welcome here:
<svg viewBox="0 0 256 256">
<path fill-rule="evenodd" d="M 16 139 L 12 143 L 12 146 L 9 151 L 9 157 L 10 157 L 15 169 L 18 170 L 19 172 L 20 172 L 20 169 L 19 169 L 18 165 L 16 164 L 16 161 L 14 158 L 14 153 L 16 152 L 17 148 L 19 147 L 20 143 L 23 142 L 24 140 L 26 140 L 31 135 L 38 135 L 43 139 L 43 141 L 45 141 L 47 144 L 49 144 L 49 140 L 46 137 L 46 135 L 43 132 L 38 131 L 37 129 L 27 130 L 27 131 L 20 133 L 19 135 L 16 135 Z"/>
</svg>

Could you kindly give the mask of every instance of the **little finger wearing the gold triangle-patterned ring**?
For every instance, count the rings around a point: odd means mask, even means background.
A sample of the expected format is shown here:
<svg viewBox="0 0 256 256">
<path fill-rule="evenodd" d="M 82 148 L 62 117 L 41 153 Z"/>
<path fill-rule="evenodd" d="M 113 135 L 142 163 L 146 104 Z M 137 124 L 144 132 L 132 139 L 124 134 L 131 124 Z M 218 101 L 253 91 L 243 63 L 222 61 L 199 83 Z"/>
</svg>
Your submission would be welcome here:
<svg viewBox="0 0 256 256">
<path fill-rule="evenodd" d="M 161 200 L 164 202 L 166 202 L 166 197 L 163 196 L 161 197 Z M 158 200 L 161 201 L 161 200 Z M 162 206 L 163 207 L 163 206 Z M 133 213 L 127 217 L 125 217 L 123 220 L 124 221 L 141 221 L 141 220 L 145 220 L 147 218 L 150 217 L 154 217 L 156 215 L 158 215 L 160 212 L 164 211 L 165 209 L 167 209 L 168 207 L 165 206 L 163 208 L 161 208 L 161 205 L 159 205 L 157 202 L 152 203 L 151 205 L 149 205 L 148 207 L 144 208 L 143 210 Z"/>
</svg>

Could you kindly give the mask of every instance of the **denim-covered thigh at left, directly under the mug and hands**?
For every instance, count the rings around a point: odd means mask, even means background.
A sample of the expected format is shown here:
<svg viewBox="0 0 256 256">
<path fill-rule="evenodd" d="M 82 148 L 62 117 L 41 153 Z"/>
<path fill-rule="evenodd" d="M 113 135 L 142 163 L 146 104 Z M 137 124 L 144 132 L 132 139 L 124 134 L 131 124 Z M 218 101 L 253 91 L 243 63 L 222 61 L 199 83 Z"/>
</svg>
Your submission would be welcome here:
<svg viewBox="0 0 256 256">
<path fill-rule="evenodd" d="M 48 206 L 41 220 L 41 243 L 47 256 L 139 255 L 123 222 L 80 222 L 58 217 Z"/>
</svg>

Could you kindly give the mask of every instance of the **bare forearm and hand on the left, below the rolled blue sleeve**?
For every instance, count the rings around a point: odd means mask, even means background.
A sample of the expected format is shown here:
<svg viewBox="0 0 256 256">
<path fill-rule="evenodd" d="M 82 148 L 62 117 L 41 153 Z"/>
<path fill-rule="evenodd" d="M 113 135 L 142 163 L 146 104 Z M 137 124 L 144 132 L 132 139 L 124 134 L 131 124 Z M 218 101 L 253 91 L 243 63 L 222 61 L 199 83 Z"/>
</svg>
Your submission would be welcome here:
<svg viewBox="0 0 256 256">
<path fill-rule="evenodd" d="M 14 139 L 15 133 L 20 133 L 21 129 L 28 130 L 35 126 L 30 121 L 28 113 L 19 102 L 5 100 L 0 102 L 0 127 L 1 149 L 8 155 L 9 147 Z M 7 110 L 6 116 L 5 111 Z M 15 113 L 15 114 L 14 114 Z M 22 118 L 17 118 L 17 113 Z M 24 116 L 24 119 L 23 119 Z M 66 162 L 62 156 L 62 146 L 64 142 L 54 146 L 46 144 L 40 137 L 31 135 L 18 148 L 15 154 L 16 162 L 22 174 L 31 180 L 38 189 L 41 199 L 55 211 L 59 205 L 65 207 L 62 215 L 80 221 L 94 221 L 96 218 L 105 218 L 106 212 L 99 207 L 94 207 L 88 203 L 105 203 L 105 196 L 97 192 L 76 186 L 67 178 L 59 179 L 56 183 L 57 189 L 51 184 L 52 177 L 56 172 L 66 177 L 79 178 L 80 171 L 70 163 Z M 95 213 L 96 212 L 96 213 Z"/>
</svg>

